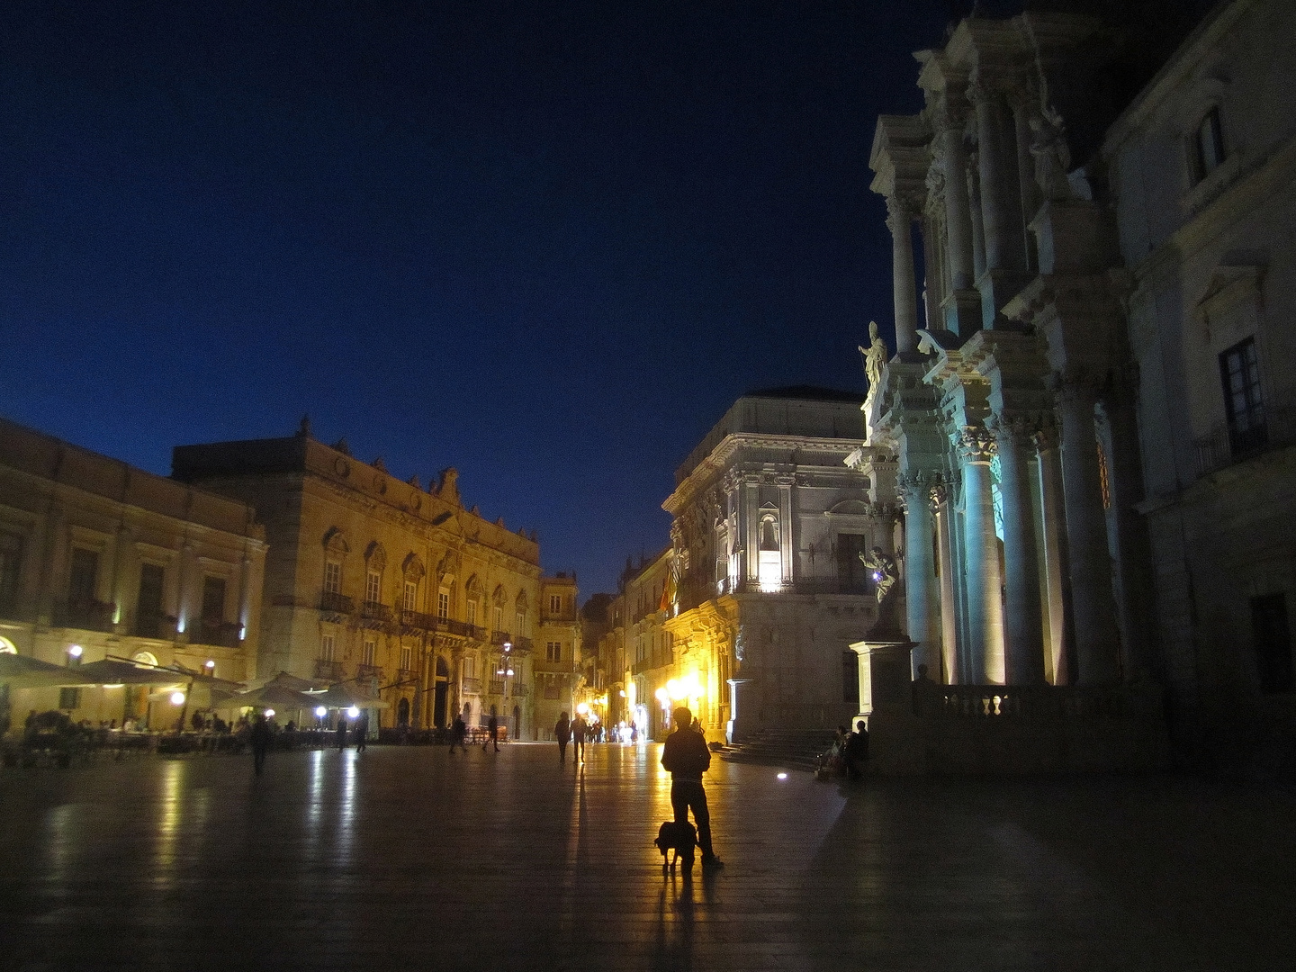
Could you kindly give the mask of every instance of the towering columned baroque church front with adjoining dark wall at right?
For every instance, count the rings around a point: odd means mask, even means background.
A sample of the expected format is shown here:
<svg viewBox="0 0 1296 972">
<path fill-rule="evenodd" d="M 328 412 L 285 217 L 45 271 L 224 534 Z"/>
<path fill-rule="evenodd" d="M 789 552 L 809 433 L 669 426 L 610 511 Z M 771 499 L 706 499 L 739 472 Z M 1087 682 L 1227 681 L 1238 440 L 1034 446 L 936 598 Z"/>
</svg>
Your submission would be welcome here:
<svg viewBox="0 0 1296 972">
<path fill-rule="evenodd" d="M 964 19 L 916 54 L 924 110 L 879 118 L 868 445 L 915 665 L 1160 684 L 1209 752 L 1296 715 L 1296 10 L 1218 4 L 1120 100 L 1109 27 Z"/>
</svg>

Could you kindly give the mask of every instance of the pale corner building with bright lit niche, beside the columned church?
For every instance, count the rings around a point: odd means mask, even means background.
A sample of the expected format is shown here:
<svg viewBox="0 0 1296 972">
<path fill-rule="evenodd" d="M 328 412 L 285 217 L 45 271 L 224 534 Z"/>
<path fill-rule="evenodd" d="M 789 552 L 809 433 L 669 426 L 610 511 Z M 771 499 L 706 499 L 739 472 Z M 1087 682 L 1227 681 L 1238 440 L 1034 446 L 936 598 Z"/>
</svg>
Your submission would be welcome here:
<svg viewBox="0 0 1296 972">
<path fill-rule="evenodd" d="M 893 550 L 894 463 L 859 447 L 862 398 L 744 395 L 675 472 L 662 712 L 713 737 L 829 728 L 859 712 L 849 649 L 876 618 L 859 555 Z M 846 464 L 854 456 L 854 467 Z"/>
</svg>

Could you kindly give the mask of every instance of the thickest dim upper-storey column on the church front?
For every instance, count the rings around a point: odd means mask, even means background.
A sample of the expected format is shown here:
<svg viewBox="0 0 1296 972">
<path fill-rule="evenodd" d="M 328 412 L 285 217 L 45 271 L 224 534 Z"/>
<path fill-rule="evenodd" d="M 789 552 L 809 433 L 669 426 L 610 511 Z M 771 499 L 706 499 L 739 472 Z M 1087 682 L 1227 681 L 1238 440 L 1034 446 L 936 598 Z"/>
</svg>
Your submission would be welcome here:
<svg viewBox="0 0 1296 972">
<path fill-rule="evenodd" d="M 986 268 L 1025 270 L 1021 187 L 1012 119 L 1003 95 L 984 80 L 968 86 L 968 100 L 976 109 Z"/>
</svg>

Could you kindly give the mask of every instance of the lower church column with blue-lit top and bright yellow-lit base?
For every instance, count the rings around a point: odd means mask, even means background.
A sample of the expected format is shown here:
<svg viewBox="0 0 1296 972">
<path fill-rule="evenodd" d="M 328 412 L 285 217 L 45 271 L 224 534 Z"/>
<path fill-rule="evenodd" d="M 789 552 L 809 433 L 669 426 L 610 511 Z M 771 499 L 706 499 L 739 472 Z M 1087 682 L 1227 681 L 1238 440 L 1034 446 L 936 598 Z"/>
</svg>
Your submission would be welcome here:
<svg viewBox="0 0 1296 972">
<path fill-rule="evenodd" d="M 999 540 L 994 531 L 990 463 L 994 439 L 985 430 L 964 426 L 956 443 L 963 470 L 963 548 L 966 555 L 969 679 L 1003 684 L 1003 582 Z"/>
</svg>

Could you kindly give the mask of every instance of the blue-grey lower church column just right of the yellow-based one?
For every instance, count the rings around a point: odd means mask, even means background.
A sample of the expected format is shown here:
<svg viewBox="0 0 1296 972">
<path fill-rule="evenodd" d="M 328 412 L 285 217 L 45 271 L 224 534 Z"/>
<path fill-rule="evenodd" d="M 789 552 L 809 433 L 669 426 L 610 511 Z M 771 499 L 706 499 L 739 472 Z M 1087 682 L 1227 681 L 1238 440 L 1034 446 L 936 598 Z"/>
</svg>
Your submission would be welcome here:
<svg viewBox="0 0 1296 972">
<path fill-rule="evenodd" d="M 1045 682 L 1039 562 L 1030 503 L 1030 429 L 1021 419 L 995 420 L 999 495 L 1003 502 L 1003 564 L 1007 574 L 1006 684 Z"/>
</svg>

